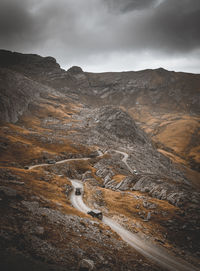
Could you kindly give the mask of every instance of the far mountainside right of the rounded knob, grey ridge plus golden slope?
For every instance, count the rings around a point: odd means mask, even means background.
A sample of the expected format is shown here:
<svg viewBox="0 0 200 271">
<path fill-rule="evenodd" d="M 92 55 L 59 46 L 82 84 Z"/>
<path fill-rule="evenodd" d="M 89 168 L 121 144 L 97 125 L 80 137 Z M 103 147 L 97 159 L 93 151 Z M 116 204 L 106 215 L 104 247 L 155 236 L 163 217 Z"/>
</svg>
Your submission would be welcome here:
<svg viewBox="0 0 200 271">
<path fill-rule="evenodd" d="M 165 155 L 198 171 L 199 75 L 157 69 L 87 77 L 85 102 L 124 107 Z"/>
</svg>

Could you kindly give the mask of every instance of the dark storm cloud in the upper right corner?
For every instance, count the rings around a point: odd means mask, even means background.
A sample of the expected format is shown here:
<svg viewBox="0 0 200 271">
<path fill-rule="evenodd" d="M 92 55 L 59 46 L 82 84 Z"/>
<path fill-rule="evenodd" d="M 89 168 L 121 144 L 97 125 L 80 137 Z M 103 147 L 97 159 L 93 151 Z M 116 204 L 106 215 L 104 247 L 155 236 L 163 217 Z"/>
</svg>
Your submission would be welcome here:
<svg viewBox="0 0 200 271">
<path fill-rule="evenodd" d="M 199 26 L 199 0 L 167 0 L 146 17 L 140 30 L 150 46 L 187 52 L 200 47 Z"/>
</svg>

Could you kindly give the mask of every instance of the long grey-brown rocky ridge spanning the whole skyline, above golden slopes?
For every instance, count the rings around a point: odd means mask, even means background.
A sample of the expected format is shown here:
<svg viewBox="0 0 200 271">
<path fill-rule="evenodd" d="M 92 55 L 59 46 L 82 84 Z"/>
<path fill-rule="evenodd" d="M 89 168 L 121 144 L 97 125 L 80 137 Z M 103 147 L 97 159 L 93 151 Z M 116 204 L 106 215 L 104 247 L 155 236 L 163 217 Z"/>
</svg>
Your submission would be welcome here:
<svg viewBox="0 0 200 271">
<path fill-rule="evenodd" d="M 73 91 L 90 104 L 147 106 L 153 112 L 200 113 L 200 75 L 164 69 L 139 72 L 68 71 L 52 57 L 0 50 L 0 67 L 22 73 L 62 91 Z"/>
</svg>

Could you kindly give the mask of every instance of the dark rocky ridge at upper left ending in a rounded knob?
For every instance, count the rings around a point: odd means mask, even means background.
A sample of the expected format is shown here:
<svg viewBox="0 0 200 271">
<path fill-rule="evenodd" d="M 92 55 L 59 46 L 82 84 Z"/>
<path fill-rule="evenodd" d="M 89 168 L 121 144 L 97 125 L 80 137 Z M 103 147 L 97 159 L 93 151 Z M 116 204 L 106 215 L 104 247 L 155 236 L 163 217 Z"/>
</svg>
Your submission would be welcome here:
<svg viewBox="0 0 200 271">
<path fill-rule="evenodd" d="M 71 87 L 83 85 L 83 80 L 85 80 L 84 72 L 80 67 L 74 66 L 65 71 L 60 68 L 55 58 L 37 54 L 0 50 L 0 68 L 22 73 L 35 81 L 64 92 Z"/>
</svg>

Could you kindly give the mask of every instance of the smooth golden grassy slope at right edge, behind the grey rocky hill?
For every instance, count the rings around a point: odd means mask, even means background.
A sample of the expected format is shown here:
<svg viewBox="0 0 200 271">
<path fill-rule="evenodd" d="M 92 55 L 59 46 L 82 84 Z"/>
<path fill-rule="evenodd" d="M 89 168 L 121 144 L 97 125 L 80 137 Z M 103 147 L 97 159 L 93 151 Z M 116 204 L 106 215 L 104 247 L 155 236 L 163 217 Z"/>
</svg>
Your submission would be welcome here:
<svg viewBox="0 0 200 271">
<path fill-rule="evenodd" d="M 176 163 L 191 167 L 200 162 L 200 118 L 186 114 L 150 114 L 148 106 L 129 109 L 130 115 L 150 134 L 159 151 Z"/>
</svg>

